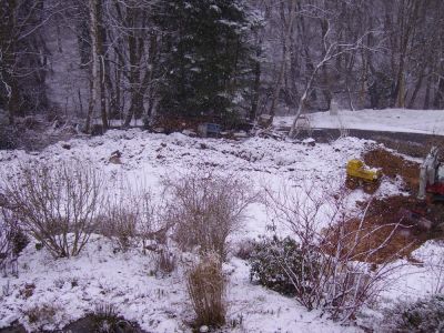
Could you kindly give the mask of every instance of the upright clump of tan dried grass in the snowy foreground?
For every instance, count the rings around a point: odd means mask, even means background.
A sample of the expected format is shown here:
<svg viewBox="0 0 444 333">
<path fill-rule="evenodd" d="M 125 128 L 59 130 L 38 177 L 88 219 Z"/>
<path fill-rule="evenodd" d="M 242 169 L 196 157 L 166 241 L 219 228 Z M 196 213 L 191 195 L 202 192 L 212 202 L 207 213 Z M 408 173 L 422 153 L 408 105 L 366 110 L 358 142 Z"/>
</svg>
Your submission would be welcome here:
<svg viewBox="0 0 444 333">
<path fill-rule="evenodd" d="M 188 274 L 188 292 L 196 314 L 195 326 L 225 323 L 225 280 L 218 254 L 206 253 Z"/>
</svg>

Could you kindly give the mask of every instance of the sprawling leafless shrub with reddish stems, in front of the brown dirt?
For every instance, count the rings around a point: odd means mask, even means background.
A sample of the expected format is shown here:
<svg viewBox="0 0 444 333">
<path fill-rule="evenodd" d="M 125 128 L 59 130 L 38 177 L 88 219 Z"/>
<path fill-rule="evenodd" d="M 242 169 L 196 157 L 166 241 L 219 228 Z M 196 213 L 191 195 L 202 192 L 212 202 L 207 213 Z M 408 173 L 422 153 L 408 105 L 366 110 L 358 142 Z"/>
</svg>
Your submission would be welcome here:
<svg viewBox="0 0 444 333">
<path fill-rule="evenodd" d="M 299 243 L 300 270 L 276 261 L 293 284 L 295 299 L 307 309 L 327 311 L 333 319 L 353 319 L 398 268 L 392 263 L 398 253 L 377 264 L 373 259 L 390 243 L 400 223 L 367 225 L 366 210 L 349 213 L 346 190 L 332 193 L 303 186 L 266 193 L 273 220 L 287 225 Z M 384 235 L 374 244 L 372 238 L 382 229 Z"/>
</svg>

